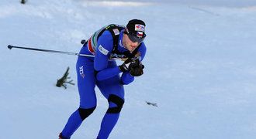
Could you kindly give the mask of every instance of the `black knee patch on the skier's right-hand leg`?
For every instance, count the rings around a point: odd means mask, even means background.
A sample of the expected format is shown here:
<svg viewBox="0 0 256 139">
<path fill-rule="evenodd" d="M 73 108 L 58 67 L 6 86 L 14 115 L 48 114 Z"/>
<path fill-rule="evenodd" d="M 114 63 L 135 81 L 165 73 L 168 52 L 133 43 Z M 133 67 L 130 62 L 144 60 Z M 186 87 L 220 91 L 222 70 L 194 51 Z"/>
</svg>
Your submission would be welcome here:
<svg viewBox="0 0 256 139">
<path fill-rule="evenodd" d="M 115 103 L 116 107 L 109 107 L 109 109 L 107 110 L 107 114 L 118 114 L 122 110 L 124 103 L 124 100 L 122 98 L 111 94 L 109 95 L 108 101 L 109 105 L 110 103 Z"/>
</svg>

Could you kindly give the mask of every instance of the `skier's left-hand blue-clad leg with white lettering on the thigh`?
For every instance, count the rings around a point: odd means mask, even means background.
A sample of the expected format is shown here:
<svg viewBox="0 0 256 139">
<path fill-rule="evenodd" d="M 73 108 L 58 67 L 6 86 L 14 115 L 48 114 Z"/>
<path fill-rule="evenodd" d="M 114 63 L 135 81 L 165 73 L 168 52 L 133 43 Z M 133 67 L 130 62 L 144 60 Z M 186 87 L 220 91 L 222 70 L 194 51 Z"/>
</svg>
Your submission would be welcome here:
<svg viewBox="0 0 256 139">
<path fill-rule="evenodd" d="M 80 106 L 71 114 L 63 131 L 63 137 L 71 137 L 74 131 L 80 127 L 83 120 L 92 114 L 96 107 L 95 97 L 95 73 L 93 63 L 86 58 L 78 58 L 78 91 L 80 95 Z"/>
</svg>

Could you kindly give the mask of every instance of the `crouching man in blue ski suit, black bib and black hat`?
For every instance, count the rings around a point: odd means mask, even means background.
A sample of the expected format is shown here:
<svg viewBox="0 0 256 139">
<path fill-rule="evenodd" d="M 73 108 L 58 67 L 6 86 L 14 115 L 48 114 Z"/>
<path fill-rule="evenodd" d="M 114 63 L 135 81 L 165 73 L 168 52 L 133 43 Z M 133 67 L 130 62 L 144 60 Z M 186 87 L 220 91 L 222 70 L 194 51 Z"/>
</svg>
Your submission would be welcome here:
<svg viewBox="0 0 256 139">
<path fill-rule="evenodd" d="M 133 19 L 125 26 L 107 25 L 95 32 L 80 53 L 95 55 L 95 57 L 78 56 L 76 70 L 78 73 L 78 91 L 80 106 L 67 120 L 60 139 L 69 139 L 96 108 L 95 86 L 109 102 L 109 109 L 102 119 L 97 139 L 109 137 L 119 119 L 119 113 L 124 103 L 123 85 L 141 76 L 144 65 L 146 46 L 144 44 L 145 23 Z M 117 66 L 112 58 L 122 58 L 126 61 Z M 121 73 L 121 76 L 119 76 Z"/>
</svg>

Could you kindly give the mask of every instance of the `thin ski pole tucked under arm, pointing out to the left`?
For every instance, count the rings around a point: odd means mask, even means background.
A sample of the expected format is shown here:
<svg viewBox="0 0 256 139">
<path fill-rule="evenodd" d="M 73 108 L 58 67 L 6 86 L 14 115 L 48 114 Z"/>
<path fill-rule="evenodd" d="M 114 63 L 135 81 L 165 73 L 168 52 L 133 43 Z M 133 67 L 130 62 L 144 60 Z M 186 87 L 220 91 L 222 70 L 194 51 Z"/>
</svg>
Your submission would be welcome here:
<svg viewBox="0 0 256 139">
<path fill-rule="evenodd" d="M 86 55 L 82 53 L 71 53 L 71 52 L 64 52 L 64 51 L 57 51 L 57 50 L 51 50 L 51 49 L 36 49 L 36 48 L 29 48 L 29 47 L 21 47 L 21 46 L 7 46 L 9 49 L 16 48 L 16 49 L 29 49 L 33 51 L 41 51 L 41 52 L 47 52 L 47 53 L 61 53 L 61 54 L 67 54 L 67 55 L 74 55 L 74 56 L 87 56 L 87 57 L 95 57 L 94 55 Z M 117 60 L 122 60 L 120 58 L 112 58 Z"/>
</svg>

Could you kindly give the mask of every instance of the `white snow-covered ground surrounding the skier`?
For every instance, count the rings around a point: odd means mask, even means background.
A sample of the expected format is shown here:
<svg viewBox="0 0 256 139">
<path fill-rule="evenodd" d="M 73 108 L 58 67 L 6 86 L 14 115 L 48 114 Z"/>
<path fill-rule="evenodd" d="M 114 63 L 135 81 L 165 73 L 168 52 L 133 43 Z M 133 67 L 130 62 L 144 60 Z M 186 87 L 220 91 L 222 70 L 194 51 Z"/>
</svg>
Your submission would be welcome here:
<svg viewBox="0 0 256 139">
<path fill-rule="evenodd" d="M 7 49 L 9 44 L 79 52 L 102 25 L 147 24 L 144 76 L 126 86 L 110 139 L 256 137 L 254 0 L 0 1 L 0 139 L 57 138 L 78 108 L 77 86 L 58 88 L 76 56 Z M 95 138 L 108 107 L 98 107 L 73 138 Z M 157 103 L 158 107 L 145 101 Z"/>
</svg>

